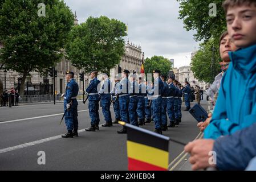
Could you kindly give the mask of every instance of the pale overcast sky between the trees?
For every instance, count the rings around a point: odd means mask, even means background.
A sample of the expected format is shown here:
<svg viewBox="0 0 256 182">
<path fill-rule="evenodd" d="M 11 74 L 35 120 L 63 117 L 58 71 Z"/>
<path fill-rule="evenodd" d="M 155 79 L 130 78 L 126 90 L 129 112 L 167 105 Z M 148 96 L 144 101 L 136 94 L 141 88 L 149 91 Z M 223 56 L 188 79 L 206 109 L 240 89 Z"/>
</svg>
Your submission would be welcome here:
<svg viewBox="0 0 256 182">
<path fill-rule="evenodd" d="M 89 16 L 115 18 L 128 24 L 129 41 L 141 44 L 145 57 L 174 59 L 174 67 L 190 64 L 191 52 L 198 48 L 192 31 L 178 19 L 176 0 L 64 0 L 79 23 Z M 127 41 L 127 38 L 125 38 Z"/>
</svg>

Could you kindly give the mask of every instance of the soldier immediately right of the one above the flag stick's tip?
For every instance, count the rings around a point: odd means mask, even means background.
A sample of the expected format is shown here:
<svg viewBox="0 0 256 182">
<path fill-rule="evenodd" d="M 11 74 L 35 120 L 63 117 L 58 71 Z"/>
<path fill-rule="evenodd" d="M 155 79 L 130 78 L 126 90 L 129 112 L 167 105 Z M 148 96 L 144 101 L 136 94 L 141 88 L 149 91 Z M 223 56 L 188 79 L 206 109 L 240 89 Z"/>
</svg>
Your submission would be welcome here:
<svg viewBox="0 0 256 182">
<path fill-rule="evenodd" d="M 139 126 L 137 112 L 136 112 L 137 104 L 138 104 L 137 95 L 139 94 L 139 84 L 136 81 L 135 73 L 131 75 L 130 78 L 131 78 L 131 86 L 129 88 L 130 98 L 129 98 L 129 106 L 128 106 L 130 124 L 133 126 Z"/>
</svg>

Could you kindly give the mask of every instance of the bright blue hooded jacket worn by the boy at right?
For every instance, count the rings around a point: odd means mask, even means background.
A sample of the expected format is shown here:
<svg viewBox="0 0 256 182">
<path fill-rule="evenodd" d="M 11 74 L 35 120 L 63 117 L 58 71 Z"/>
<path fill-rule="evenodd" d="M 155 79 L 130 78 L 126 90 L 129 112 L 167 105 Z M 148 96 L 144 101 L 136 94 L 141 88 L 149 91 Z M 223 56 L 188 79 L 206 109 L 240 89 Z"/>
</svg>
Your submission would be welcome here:
<svg viewBox="0 0 256 182">
<path fill-rule="evenodd" d="M 204 138 L 217 139 L 256 122 L 256 45 L 229 52 L 213 118 Z"/>
</svg>

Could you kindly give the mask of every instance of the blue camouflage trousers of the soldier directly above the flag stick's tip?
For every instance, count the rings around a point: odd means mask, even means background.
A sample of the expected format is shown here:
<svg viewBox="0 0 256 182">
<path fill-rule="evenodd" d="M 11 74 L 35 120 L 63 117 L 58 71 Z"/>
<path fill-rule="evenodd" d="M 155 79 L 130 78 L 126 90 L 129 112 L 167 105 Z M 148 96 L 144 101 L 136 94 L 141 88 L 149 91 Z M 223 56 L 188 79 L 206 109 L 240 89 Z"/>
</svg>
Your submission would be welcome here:
<svg viewBox="0 0 256 182">
<path fill-rule="evenodd" d="M 119 97 L 119 106 L 121 121 L 130 123 L 128 114 L 129 95 Z"/>
</svg>

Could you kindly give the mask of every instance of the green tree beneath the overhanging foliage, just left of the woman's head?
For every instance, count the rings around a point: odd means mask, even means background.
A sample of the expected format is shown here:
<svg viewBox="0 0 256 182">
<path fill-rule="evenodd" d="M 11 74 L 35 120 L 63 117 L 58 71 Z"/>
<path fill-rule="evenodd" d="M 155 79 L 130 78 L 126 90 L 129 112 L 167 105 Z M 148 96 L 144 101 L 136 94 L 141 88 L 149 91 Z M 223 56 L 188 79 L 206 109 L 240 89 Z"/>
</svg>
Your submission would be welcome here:
<svg viewBox="0 0 256 182">
<path fill-rule="evenodd" d="M 201 43 L 199 51 L 190 63 L 194 77 L 199 81 L 212 83 L 214 81 L 214 77 L 220 72 L 219 60 L 221 58 L 218 49 L 215 51 L 214 67 L 212 65 L 213 47 L 217 47 L 214 39 L 209 39 L 208 42 Z"/>
</svg>

